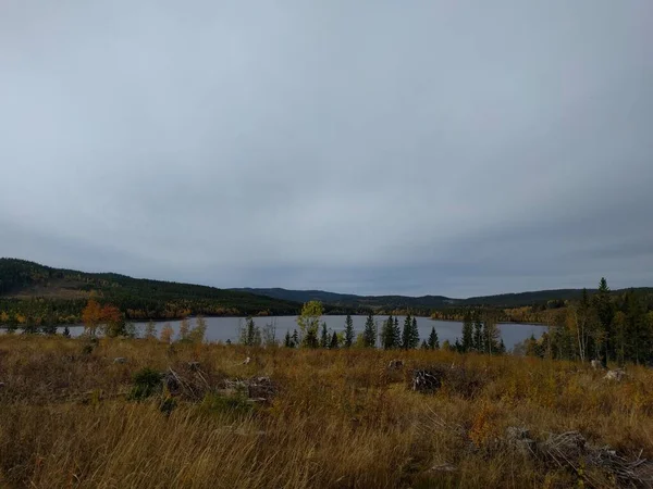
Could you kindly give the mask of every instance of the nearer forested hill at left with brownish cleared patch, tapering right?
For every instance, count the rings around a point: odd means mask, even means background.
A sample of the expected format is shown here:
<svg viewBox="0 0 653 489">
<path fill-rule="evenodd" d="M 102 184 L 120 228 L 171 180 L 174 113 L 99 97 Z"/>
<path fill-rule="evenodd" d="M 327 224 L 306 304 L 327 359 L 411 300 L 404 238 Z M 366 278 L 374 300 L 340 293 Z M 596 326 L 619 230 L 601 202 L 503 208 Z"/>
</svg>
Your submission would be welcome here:
<svg viewBox="0 0 653 489">
<path fill-rule="evenodd" d="M 244 291 L 0 259 L 0 314 L 50 315 L 56 323 L 77 322 L 91 294 L 100 302 L 116 305 L 130 319 L 177 318 L 188 314 L 296 314 L 300 309 L 293 301 Z"/>
</svg>

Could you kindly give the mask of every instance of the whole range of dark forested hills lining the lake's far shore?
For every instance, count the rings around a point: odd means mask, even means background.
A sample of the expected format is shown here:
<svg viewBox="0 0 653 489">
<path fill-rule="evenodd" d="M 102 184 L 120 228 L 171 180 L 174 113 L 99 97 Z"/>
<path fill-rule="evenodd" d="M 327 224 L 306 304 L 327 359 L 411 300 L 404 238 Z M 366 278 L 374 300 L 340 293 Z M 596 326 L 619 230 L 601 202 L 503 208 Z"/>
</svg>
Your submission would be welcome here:
<svg viewBox="0 0 653 489">
<path fill-rule="evenodd" d="M 653 297 L 653 288 L 639 290 Z M 37 318 L 47 316 L 48 321 L 58 323 L 78 322 L 82 309 L 91 294 L 100 302 L 119 306 L 130 319 L 178 318 L 188 314 L 294 315 L 300 311 L 301 303 L 311 300 L 323 302 L 328 314 L 367 313 L 369 310 L 381 313 L 409 309 L 421 315 L 446 310 L 448 312 L 443 317 L 458 317 L 468 306 L 509 309 L 532 305 L 538 310 L 558 308 L 566 300 L 578 299 L 581 290 L 539 290 L 455 299 L 444 296 L 356 296 L 282 288 L 218 289 L 132 278 L 113 273 L 52 268 L 25 260 L 0 259 L 0 323 L 7 322 L 7 315 L 14 317 L 16 314 L 24 319 L 27 315 Z"/>
</svg>

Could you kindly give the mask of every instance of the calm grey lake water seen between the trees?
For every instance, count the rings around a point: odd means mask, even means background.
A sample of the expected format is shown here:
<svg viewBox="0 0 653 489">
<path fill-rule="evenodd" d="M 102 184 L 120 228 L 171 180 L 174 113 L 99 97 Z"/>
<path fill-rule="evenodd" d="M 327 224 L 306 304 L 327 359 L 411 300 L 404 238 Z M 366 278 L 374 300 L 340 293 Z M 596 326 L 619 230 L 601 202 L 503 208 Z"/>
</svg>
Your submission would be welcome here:
<svg viewBox="0 0 653 489">
<path fill-rule="evenodd" d="M 326 327 L 332 330 L 341 331 L 345 328 L 346 316 L 323 316 L 322 321 L 326 323 Z M 379 325 L 379 331 L 381 325 L 387 316 L 374 316 Z M 354 319 L 354 329 L 356 333 L 362 333 L 365 327 L 366 316 L 352 316 Z M 276 339 L 283 341 L 286 331 L 289 329 L 299 329 L 296 323 L 296 316 L 276 316 L 276 317 L 256 317 L 255 323 L 257 326 L 262 327 L 266 324 L 274 323 L 276 325 Z M 227 339 L 236 342 L 238 339 L 238 328 L 245 323 L 244 317 L 207 317 L 207 340 L 209 341 L 226 341 Z M 180 322 L 171 321 L 170 325 L 178 331 Z M 147 323 L 135 323 L 136 330 L 139 335 L 143 335 L 145 325 Z M 161 331 L 167 323 L 157 323 L 157 330 Z M 195 325 L 195 321 L 190 319 L 190 325 Z M 403 327 L 404 317 L 399 316 L 399 326 Z M 454 342 L 456 338 L 461 337 L 463 323 L 449 322 L 449 321 L 432 321 L 428 317 L 418 317 L 417 326 L 419 328 L 419 336 L 421 339 L 427 339 L 431 333 L 431 328 L 435 326 L 440 343 L 444 340 Z M 79 336 L 84 333 L 83 326 L 69 326 L 72 336 Z M 502 324 L 500 325 L 501 336 L 506 344 L 506 348 L 512 349 L 515 343 L 525 340 L 531 335 L 535 335 L 539 338 L 542 333 L 546 329 L 545 326 L 532 325 L 532 324 Z M 60 331 L 63 328 L 60 328 Z"/>
</svg>

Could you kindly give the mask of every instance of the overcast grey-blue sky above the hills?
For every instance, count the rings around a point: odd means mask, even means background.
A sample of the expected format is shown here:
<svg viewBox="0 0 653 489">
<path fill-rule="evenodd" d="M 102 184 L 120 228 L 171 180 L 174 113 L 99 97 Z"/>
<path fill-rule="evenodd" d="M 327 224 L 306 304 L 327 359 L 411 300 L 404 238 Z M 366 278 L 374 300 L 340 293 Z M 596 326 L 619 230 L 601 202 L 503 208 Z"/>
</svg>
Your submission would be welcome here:
<svg viewBox="0 0 653 489">
<path fill-rule="evenodd" d="M 653 2 L 2 0 L 0 256 L 217 287 L 653 286 Z"/>
</svg>

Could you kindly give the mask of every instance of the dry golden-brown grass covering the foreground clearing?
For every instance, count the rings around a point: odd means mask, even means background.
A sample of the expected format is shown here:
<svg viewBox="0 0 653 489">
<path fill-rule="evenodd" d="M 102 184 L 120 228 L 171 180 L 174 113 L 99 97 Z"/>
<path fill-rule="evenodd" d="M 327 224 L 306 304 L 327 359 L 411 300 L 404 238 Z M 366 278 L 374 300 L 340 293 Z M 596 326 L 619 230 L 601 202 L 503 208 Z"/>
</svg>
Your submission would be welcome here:
<svg viewBox="0 0 653 489">
<path fill-rule="evenodd" d="M 0 337 L 0 487 L 623 485 L 605 471 L 516 452 L 505 442 L 509 426 L 527 427 L 535 440 L 578 430 L 619 456 L 653 459 L 653 372 L 644 368 L 609 383 L 572 363 L 449 352 L 171 349 L 145 340 L 83 347 Z M 119 356 L 126 363 L 114 363 Z M 243 364 L 246 356 L 252 361 Z M 387 372 L 395 358 L 405 367 Z M 199 373 L 188 362 L 199 362 Z M 408 389 L 411 368 L 452 363 L 456 374 L 436 393 Z M 128 400 L 145 367 L 172 368 L 199 387 L 168 415 L 165 391 Z M 254 376 L 278 387 L 270 403 L 251 409 L 219 390 Z"/>
</svg>

